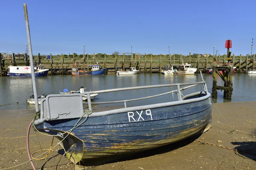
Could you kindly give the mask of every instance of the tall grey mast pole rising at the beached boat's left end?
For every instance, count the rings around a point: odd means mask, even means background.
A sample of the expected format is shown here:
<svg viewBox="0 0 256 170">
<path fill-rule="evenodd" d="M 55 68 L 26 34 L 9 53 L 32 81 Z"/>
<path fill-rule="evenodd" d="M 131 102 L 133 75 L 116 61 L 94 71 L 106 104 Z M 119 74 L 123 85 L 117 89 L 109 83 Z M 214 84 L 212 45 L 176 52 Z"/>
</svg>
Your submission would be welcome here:
<svg viewBox="0 0 256 170">
<path fill-rule="evenodd" d="M 31 38 L 30 38 L 30 31 L 29 31 L 29 16 L 28 16 L 28 10 L 27 10 L 26 3 L 24 3 L 23 6 L 24 6 L 24 14 L 25 14 L 27 39 L 28 39 L 28 45 L 29 45 L 29 61 L 30 61 L 32 85 L 33 85 L 33 91 L 34 91 L 34 97 L 35 97 L 35 111 L 38 112 L 39 105 L 38 105 L 38 96 L 37 96 L 36 82 L 35 82 L 35 71 L 34 71 L 34 62 L 33 62 L 33 54 L 32 54 L 32 45 L 31 45 Z"/>
</svg>

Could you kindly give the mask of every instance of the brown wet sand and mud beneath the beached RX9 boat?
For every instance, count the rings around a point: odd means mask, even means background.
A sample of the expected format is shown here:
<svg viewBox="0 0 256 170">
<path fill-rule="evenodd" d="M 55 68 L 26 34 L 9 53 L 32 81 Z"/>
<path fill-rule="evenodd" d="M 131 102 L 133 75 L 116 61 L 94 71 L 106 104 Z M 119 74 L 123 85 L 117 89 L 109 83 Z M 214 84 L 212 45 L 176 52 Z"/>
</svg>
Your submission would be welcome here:
<svg viewBox="0 0 256 170">
<path fill-rule="evenodd" d="M 112 163 L 91 164 L 86 168 L 87 170 L 255 170 L 256 102 L 215 105 L 228 124 L 212 105 L 212 128 L 201 136 Z M 28 161 L 26 131 L 34 112 L 33 110 L 0 110 L 0 169 Z M 38 139 L 42 149 L 50 147 L 52 137 L 39 135 Z M 31 153 L 40 150 L 32 129 L 29 142 Z M 58 139 L 54 139 L 53 145 L 57 143 Z M 45 159 L 35 160 L 35 167 L 40 170 L 75 170 L 71 161 L 59 153 L 63 152 L 61 147 L 57 146 L 47 157 L 49 165 Z M 12 170 L 32 170 L 32 166 L 26 162 Z"/>
</svg>

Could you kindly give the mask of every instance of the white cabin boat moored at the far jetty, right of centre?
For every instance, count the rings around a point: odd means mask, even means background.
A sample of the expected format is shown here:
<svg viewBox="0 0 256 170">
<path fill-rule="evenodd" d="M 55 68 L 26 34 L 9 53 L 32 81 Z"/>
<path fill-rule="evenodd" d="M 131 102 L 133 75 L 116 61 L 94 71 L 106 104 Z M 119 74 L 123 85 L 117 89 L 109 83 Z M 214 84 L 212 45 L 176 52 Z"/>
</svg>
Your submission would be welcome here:
<svg viewBox="0 0 256 170">
<path fill-rule="evenodd" d="M 167 65 L 167 68 L 163 68 L 161 73 L 163 74 L 195 74 L 197 68 L 191 68 L 191 64 L 175 64 Z"/>
</svg>

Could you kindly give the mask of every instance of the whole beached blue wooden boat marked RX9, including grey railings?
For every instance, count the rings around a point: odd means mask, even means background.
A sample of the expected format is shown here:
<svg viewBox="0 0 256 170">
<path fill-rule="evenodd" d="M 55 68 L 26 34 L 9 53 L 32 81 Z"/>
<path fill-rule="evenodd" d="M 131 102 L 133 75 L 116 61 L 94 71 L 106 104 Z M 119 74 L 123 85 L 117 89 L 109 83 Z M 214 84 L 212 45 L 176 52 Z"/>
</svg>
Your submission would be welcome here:
<svg viewBox="0 0 256 170">
<path fill-rule="evenodd" d="M 182 96 L 181 91 L 201 85 L 202 91 Z M 182 86 L 183 88 L 180 88 Z M 186 86 L 186 87 L 184 87 Z M 84 112 L 81 95 L 48 95 L 41 101 L 40 119 L 34 121 L 38 131 L 55 135 L 63 143 L 66 156 L 74 164 L 103 160 L 189 138 L 208 130 L 211 124 L 211 100 L 206 82 L 150 85 L 86 91 L 87 95 L 131 90 L 176 87 L 177 90 L 137 99 L 109 102 L 87 100 Z M 171 94 L 177 94 L 172 101 Z M 127 107 L 128 102 L 167 95 L 166 102 Z M 123 103 L 123 108 L 92 111 L 92 104 Z M 108 107 L 109 108 L 109 107 Z M 78 126 L 77 126 L 78 125 Z M 74 126 L 77 126 L 74 128 Z M 71 130 L 71 131 L 69 131 Z"/>
</svg>

